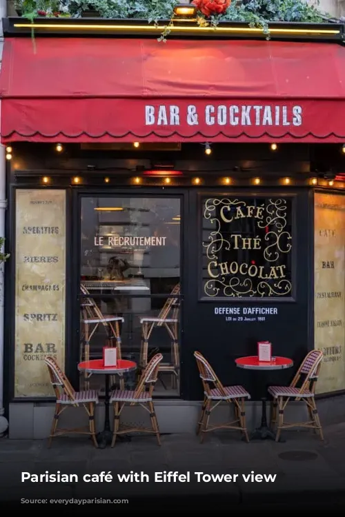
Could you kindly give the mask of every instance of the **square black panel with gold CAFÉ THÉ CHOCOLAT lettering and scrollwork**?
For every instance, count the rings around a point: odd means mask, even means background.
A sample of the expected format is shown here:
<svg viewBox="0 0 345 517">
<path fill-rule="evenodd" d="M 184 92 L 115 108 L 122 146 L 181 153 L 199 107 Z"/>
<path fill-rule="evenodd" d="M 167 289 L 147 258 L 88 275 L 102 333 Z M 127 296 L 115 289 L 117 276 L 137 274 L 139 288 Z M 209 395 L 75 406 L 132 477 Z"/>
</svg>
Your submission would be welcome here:
<svg viewBox="0 0 345 517">
<path fill-rule="evenodd" d="M 290 198 L 206 198 L 202 221 L 204 298 L 292 296 Z"/>
</svg>

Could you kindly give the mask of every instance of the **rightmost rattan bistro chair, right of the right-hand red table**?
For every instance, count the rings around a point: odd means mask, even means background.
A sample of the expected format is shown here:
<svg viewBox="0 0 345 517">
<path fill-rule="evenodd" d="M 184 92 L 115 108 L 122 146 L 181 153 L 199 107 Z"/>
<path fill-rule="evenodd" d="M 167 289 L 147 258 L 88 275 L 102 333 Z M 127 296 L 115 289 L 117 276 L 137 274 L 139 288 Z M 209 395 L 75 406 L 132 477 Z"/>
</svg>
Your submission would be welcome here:
<svg viewBox="0 0 345 517">
<path fill-rule="evenodd" d="M 304 358 L 290 386 L 270 386 L 268 388 L 268 393 L 273 396 L 271 425 L 277 424 L 276 442 L 280 438 L 282 429 L 288 429 L 289 427 L 308 427 L 309 429 L 315 429 L 315 432 L 319 434 L 320 438 L 322 440 L 324 439 L 315 404 L 315 385 L 322 365 L 322 356 L 323 353 L 321 350 L 312 350 L 312 352 L 309 352 Z M 302 376 L 304 377 L 302 385 L 297 387 Z M 306 403 L 310 418 L 308 422 L 284 423 L 284 410 L 291 399 L 295 402 L 302 401 Z"/>
</svg>

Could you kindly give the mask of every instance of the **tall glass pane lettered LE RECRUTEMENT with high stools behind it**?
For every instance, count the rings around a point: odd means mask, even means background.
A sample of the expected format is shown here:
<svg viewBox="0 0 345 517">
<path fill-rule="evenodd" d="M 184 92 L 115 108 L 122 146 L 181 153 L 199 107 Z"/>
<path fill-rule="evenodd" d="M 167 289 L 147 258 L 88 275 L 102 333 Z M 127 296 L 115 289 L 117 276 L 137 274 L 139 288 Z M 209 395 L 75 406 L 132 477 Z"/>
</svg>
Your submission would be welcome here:
<svg viewBox="0 0 345 517">
<path fill-rule="evenodd" d="M 121 357 L 138 365 L 114 379 L 127 389 L 161 352 L 155 394 L 179 393 L 180 221 L 178 198 L 81 200 L 80 356 L 101 358 L 104 346 L 117 344 Z M 103 380 L 81 377 L 81 385 L 98 388 Z"/>
</svg>

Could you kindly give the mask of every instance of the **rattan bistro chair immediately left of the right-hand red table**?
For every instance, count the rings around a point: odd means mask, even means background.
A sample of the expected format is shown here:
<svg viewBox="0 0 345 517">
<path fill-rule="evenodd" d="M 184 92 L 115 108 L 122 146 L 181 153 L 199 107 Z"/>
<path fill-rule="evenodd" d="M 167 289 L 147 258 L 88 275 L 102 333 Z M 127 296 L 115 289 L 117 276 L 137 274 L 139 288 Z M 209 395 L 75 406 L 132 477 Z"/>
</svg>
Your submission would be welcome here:
<svg viewBox="0 0 345 517">
<path fill-rule="evenodd" d="M 204 441 L 205 433 L 215 431 L 215 429 L 235 429 L 241 431 L 248 442 L 244 401 L 246 398 L 250 399 L 250 394 L 240 385 L 223 386 L 204 356 L 202 356 L 200 352 L 194 352 L 194 356 L 197 360 L 197 367 L 204 387 L 204 402 L 201 410 L 201 418 L 197 426 L 197 434 L 201 434 L 201 443 Z M 212 385 L 214 387 L 211 387 Z M 213 412 L 221 402 L 228 404 L 233 403 L 235 405 L 235 420 L 208 427 L 211 412 Z"/>
</svg>

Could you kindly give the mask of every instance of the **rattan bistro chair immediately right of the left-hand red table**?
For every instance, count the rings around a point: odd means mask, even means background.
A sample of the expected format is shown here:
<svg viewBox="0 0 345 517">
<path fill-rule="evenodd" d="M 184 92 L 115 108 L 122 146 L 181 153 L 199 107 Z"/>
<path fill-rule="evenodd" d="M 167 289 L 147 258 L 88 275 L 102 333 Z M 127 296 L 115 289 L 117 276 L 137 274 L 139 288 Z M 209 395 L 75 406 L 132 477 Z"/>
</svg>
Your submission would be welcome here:
<svg viewBox="0 0 345 517">
<path fill-rule="evenodd" d="M 110 404 L 114 405 L 114 431 L 112 435 L 112 444 L 114 447 L 115 440 L 118 434 L 127 434 L 129 432 L 147 432 L 154 433 L 157 436 L 158 444 L 161 445 L 161 438 L 159 436 L 159 427 L 157 417 L 155 414 L 155 407 L 152 402 L 152 392 L 157 382 L 157 375 L 159 369 L 159 363 L 163 359 L 161 354 L 156 354 L 149 361 L 148 365 L 141 374 L 139 383 L 135 391 L 129 391 L 126 389 L 115 389 L 110 396 Z M 148 389 L 147 389 L 148 388 Z M 125 405 L 136 405 L 139 404 L 141 407 L 146 409 L 150 413 L 150 419 L 152 423 L 151 428 L 146 427 L 126 427 L 119 430 L 120 415 Z"/>
</svg>

